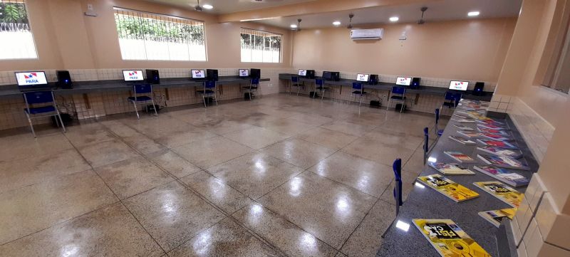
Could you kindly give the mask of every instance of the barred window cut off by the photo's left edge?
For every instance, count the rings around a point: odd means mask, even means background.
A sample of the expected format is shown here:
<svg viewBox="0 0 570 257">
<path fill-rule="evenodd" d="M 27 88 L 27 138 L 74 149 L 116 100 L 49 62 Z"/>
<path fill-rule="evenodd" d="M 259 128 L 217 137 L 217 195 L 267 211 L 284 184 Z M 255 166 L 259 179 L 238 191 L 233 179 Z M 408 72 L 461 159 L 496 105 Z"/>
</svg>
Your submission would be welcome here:
<svg viewBox="0 0 570 257">
<path fill-rule="evenodd" d="M 0 1 L 0 60 L 38 58 L 24 0 Z"/>
</svg>

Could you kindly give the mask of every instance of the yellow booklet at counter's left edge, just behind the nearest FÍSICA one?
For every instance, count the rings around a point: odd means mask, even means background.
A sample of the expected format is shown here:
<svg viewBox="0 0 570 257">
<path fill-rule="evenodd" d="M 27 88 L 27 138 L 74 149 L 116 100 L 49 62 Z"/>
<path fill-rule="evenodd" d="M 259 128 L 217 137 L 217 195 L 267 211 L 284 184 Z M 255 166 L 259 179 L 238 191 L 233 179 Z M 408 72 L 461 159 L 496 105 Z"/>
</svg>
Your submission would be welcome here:
<svg viewBox="0 0 570 257">
<path fill-rule="evenodd" d="M 431 187 L 437 192 L 440 192 L 445 196 L 453 199 L 453 201 L 465 201 L 479 196 L 477 192 L 472 191 L 467 187 L 463 187 L 460 184 L 452 182 L 451 179 L 447 179 L 440 174 L 418 177 L 418 180 L 423 184 L 426 184 L 427 187 Z"/>
</svg>

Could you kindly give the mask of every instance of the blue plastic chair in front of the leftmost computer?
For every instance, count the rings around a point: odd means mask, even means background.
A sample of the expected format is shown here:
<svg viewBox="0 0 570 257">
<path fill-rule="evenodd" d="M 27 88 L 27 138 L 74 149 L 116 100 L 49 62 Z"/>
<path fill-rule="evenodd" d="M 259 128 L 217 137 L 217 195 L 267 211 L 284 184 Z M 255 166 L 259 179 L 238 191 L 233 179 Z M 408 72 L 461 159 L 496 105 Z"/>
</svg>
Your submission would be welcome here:
<svg viewBox="0 0 570 257">
<path fill-rule="evenodd" d="M 31 122 L 31 119 L 36 119 L 39 117 L 57 116 L 56 125 L 59 127 L 59 123 L 61 123 L 63 132 L 66 132 L 66 126 L 63 125 L 63 120 L 61 120 L 61 115 L 59 115 L 59 108 L 56 103 L 56 97 L 53 95 L 53 91 L 46 90 L 25 92 L 24 102 L 26 102 L 24 113 L 26 114 L 26 117 L 28 117 L 28 122 L 30 123 L 31 134 L 33 137 L 36 137 L 36 132 L 33 130 L 33 123 Z"/>
</svg>

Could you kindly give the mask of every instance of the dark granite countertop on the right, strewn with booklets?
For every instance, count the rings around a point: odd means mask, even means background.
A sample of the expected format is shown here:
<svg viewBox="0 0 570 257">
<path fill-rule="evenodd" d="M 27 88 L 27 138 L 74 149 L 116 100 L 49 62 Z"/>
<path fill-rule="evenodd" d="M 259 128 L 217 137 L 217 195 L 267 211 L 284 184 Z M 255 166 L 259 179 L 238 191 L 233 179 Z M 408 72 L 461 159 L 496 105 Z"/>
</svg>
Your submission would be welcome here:
<svg viewBox="0 0 570 257">
<path fill-rule="evenodd" d="M 491 113 L 488 113 L 487 116 L 492 115 Z M 516 127 L 514 127 L 514 124 L 508 115 L 504 119 L 494 117 L 494 120 L 504 120 L 504 122 L 507 122 L 515 139 L 514 143 L 522 150 L 524 159 L 527 160 L 529 167 L 531 168 L 530 171 L 513 170 L 513 172 L 517 172 L 518 174 L 530 179 L 533 172 L 538 170 L 538 164 L 530 153 L 527 144 L 522 139 L 522 136 L 517 131 Z M 413 186 L 412 191 L 408 195 L 408 199 L 405 199 L 404 204 L 400 209 L 400 214 L 397 219 L 397 221 L 403 221 L 410 225 L 408 231 L 398 229 L 395 226 L 390 227 L 378 250 L 377 256 L 440 256 L 440 254 L 435 251 L 435 248 L 431 246 L 430 242 L 427 241 L 423 234 L 421 234 L 421 232 L 415 227 L 412 219 L 452 219 L 469 236 L 474 238 L 475 241 L 477 241 L 477 243 L 479 243 L 480 246 L 482 246 L 482 248 L 484 248 L 491 256 L 498 256 L 499 246 L 497 246 L 496 235 L 499 232 L 499 228 L 493 226 L 489 221 L 480 217 L 478 212 L 505 209 L 510 208 L 510 206 L 472 184 L 473 182 L 496 181 L 497 179 L 472 169 L 473 165 L 484 164 L 477 158 L 477 154 L 485 153 L 476 150 L 477 146 L 481 145 L 479 142 L 477 142 L 477 145 L 462 145 L 450 140 L 448 138 L 450 135 L 461 136 L 457 133 L 457 130 L 459 129 L 453 126 L 454 124 L 459 124 L 459 122 L 450 120 L 447 124 L 445 132 L 440 137 L 437 145 L 433 148 L 430 153 L 430 157 L 437 159 L 437 162 L 456 162 L 443 152 L 457 151 L 470 155 L 470 157 L 475 159 L 477 163 L 462 164 L 462 166 L 471 169 L 475 172 L 475 175 L 444 176 L 479 193 L 480 196 L 475 199 L 456 203 L 452 199 L 447 198 L 447 196 L 436 192 L 430 187 Z M 475 123 L 461 123 L 461 125 L 473 128 L 476 127 Z M 428 127 L 431 129 L 432 126 Z M 475 129 L 475 131 L 477 130 Z M 433 132 L 430 132 L 430 135 L 433 135 Z M 473 139 L 471 140 L 475 141 Z M 420 176 L 430 174 L 440 173 L 432 167 L 425 166 Z M 514 189 L 517 189 L 519 192 L 524 192 L 526 187 L 517 187 Z"/>
</svg>

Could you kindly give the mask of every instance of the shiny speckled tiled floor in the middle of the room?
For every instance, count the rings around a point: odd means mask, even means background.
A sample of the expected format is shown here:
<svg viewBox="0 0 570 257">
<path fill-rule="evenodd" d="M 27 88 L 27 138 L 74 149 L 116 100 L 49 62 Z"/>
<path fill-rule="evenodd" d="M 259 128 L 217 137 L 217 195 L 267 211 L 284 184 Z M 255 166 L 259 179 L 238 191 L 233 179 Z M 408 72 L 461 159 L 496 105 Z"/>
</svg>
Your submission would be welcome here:
<svg viewBox="0 0 570 257">
<path fill-rule="evenodd" d="M 374 256 L 432 115 L 271 95 L 0 137 L 0 256 Z M 4 133 L 6 134 L 6 133 Z"/>
</svg>

